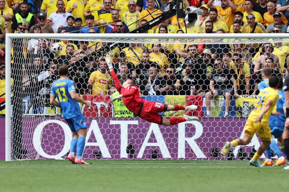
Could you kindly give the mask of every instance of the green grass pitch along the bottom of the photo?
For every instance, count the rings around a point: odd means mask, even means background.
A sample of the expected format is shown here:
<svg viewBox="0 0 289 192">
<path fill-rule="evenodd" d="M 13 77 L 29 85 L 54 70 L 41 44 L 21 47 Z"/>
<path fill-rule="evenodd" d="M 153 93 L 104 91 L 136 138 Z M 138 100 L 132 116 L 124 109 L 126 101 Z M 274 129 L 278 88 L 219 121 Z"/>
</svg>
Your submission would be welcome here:
<svg viewBox="0 0 289 192">
<path fill-rule="evenodd" d="M 207 160 L 0 161 L 3 192 L 288 191 L 289 171 L 243 161 Z"/>
</svg>

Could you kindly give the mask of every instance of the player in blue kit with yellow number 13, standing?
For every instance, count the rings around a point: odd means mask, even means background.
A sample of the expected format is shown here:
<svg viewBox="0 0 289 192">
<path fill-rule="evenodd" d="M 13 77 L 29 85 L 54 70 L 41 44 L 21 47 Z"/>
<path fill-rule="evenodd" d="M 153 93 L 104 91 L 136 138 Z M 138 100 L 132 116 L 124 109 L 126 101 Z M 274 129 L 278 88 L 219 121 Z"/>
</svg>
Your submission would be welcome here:
<svg viewBox="0 0 289 192">
<path fill-rule="evenodd" d="M 73 81 L 67 79 L 68 67 L 66 64 L 58 67 L 58 73 L 60 79 L 55 81 L 51 86 L 50 104 L 60 107 L 64 119 L 74 134 L 70 145 L 68 159 L 73 164 L 88 164 L 82 159 L 87 126 L 80 111 L 79 103 L 85 104 L 89 107 L 90 102 L 81 99 L 75 91 Z M 58 102 L 55 101 L 56 98 Z M 75 157 L 76 148 L 77 154 Z"/>
</svg>

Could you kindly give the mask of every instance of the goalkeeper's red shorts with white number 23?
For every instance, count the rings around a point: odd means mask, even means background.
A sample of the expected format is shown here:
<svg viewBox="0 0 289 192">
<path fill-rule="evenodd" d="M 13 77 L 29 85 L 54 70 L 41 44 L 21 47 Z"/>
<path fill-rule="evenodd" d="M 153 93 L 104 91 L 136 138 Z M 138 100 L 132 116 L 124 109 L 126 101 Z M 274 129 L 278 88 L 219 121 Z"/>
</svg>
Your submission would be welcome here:
<svg viewBox="0 0 289 192">
<path fill-rule="evenodd" d="M 144 101 L 142 108 L 140 108 L 141 113 L 139 117 L 152 123 L 161 124 L 163 117 L 158 113 L 166 111 L 167 108 L 168 105 L 164 103 Z"/>
</svg>

